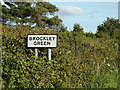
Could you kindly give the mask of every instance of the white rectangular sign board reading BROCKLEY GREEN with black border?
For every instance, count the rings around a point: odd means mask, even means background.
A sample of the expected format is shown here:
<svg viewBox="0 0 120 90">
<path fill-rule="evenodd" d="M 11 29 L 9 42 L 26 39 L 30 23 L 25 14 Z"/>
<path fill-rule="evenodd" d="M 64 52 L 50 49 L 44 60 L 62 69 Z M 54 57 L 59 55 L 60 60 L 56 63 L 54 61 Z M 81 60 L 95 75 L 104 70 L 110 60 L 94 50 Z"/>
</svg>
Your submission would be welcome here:
<svg viewBox="0 0 120 90">
<path fill-rule="evenodd" d="M 27 36 L 27 47 L 57 47 L 57 35 L 30 34 Z"/>
</svg>

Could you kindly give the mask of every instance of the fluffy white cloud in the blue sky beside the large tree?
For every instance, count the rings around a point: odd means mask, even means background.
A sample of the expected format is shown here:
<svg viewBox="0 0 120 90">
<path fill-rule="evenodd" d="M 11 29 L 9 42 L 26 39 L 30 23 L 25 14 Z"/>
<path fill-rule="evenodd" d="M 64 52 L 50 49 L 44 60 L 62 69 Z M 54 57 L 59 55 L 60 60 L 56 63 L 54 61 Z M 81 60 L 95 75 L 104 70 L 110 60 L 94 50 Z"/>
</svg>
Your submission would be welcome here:
<svg viewBox="0 0 120 90">
<path fill-rule="evenodd" d="M 71 16 L 71 15 L 82 15 L 83 10 L 75 6 L 58 6 L 59 12 L 57 13 L 60 16 Z"/>
</svg>

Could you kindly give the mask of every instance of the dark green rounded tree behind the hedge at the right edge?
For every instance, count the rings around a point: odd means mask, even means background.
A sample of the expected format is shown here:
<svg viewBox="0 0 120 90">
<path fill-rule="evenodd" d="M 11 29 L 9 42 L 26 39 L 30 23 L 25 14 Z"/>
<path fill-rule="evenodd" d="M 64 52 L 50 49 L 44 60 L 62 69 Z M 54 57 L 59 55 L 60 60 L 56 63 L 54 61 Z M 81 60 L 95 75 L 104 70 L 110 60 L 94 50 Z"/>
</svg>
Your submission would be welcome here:
<svg viewBox="0 0 120 90">
<path fill-rule="evenodd" d="M 99 34 L 99 36 L 101 36 L 101 34 L 105 34 L 113 37 L 114 30 L 116 29 L 120 29 L 119 20 L 107 17 L 107 20 L 97 27 L 97 34 Z"/>
</svg>

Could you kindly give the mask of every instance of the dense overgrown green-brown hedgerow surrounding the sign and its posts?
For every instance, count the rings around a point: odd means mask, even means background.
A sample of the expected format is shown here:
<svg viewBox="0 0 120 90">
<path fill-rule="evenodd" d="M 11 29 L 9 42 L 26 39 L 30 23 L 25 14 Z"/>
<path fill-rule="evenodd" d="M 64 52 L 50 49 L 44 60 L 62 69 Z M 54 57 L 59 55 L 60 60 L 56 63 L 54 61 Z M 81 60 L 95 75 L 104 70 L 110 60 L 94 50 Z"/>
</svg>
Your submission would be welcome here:
<svg viewBox="0 0 120 90">
<path fill-rule="evenodd" d="M 90 38 L 80 32 L 5 27 L 2 32 L 2 87 L 117 88 L 118 43 L 112 38 Z M 26 47 L 28 34 L 57 34 L 48 63 L 47 48 Z"/>
</svg>

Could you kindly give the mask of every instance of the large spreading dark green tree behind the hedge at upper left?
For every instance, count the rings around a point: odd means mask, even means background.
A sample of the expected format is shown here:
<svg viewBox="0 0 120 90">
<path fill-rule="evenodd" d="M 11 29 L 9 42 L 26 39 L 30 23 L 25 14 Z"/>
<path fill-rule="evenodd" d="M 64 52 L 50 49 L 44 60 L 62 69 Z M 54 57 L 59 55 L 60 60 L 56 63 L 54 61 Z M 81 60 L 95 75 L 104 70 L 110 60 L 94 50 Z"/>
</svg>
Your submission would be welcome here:
<svg viewBox="0 0 120 90">
<path fill-rule="evenodd" d="M 5 2 L 10 8 L 2 6 L 2 21 L 15 22 L 17 25 L 36 24 L 37 27 L 57 27 L 62 20 L 54 13 L 59 9 L 49 2 Z M 48 17 L 51 15 L 52 18 Z"/>
</svg>

